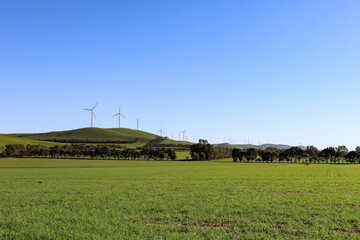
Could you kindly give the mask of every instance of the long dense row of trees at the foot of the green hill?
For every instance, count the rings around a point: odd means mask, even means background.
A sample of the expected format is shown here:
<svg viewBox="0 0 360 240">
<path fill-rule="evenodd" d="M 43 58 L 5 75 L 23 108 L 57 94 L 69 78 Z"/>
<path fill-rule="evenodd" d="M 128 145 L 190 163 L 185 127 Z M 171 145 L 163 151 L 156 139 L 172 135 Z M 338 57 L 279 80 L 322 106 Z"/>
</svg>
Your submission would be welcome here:
<svg viewBox="0 0 360 240">
<path fill-rule="evenodd" d="M 144 148 L 136 151 L 131 148 L 117 149 L 108 145 L 42 145 L 8 144 L 1 157 L 45 157 L 45 158 L 88 158 L 88 159 L 142 159 L 175 160 L 176 152 L 172 148 Z"/>
</svg>

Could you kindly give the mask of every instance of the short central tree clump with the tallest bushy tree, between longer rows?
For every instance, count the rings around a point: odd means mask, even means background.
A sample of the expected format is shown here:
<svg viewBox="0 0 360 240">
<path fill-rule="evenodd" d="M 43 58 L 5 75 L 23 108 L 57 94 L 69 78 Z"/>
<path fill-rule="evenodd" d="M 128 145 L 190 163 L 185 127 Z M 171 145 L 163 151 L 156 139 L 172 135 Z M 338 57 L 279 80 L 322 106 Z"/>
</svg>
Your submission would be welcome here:
<svg viewBox="0 0 360 240">
<path fill-rule="evenodd" d="M 199 143 L 191 146 L 190 154 L 193 160 L 213 160 L 231 157 L 232 149 L 214 146 L 207 140 L 200 139 Z"/>
</svg>

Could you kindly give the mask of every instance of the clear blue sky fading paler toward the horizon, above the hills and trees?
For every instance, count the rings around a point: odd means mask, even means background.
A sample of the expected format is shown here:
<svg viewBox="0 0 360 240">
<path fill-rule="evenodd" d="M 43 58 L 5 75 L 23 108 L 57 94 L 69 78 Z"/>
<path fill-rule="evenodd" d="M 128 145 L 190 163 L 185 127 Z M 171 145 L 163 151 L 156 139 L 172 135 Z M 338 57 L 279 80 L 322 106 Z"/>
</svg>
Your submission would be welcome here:
<svg viewBox="0 0 360 240">
<path fill-rule="evenodd" d="M 0 132 L 360 145 L 360 1 L 0 1 Z"/>
</svg>

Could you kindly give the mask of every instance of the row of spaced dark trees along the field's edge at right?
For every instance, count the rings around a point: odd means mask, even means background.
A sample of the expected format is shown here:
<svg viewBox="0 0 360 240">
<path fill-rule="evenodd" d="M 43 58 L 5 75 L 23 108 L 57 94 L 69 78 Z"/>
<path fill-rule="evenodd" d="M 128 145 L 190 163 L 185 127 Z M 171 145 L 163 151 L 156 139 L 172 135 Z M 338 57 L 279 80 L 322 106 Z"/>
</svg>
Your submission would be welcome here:
<svg viewBox="0 0 360 240">
<path fill-rule="evenodd" d="M 291 147 L 286 150 L 248 148 L 232 150 L 234 162 L 288 162 L 288 163 L 360 163 L 360 147 L 349 151 L 346 146 L 327 147 L 319 150 L 308 146 L 305 150 Z"/>
</svg>

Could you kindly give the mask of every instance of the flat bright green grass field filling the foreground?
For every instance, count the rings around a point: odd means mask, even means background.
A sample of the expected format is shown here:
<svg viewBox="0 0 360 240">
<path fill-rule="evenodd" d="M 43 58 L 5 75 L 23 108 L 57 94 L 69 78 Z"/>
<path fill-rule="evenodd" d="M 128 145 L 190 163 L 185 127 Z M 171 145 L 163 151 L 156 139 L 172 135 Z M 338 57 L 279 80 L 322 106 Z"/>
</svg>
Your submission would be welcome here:
<svg viewBox="0 0 360 240">
<path fill-rule="evenodd" d="M 1 239 L 360 238 L 360 165 L 0 159 Z"/>
</svg>

